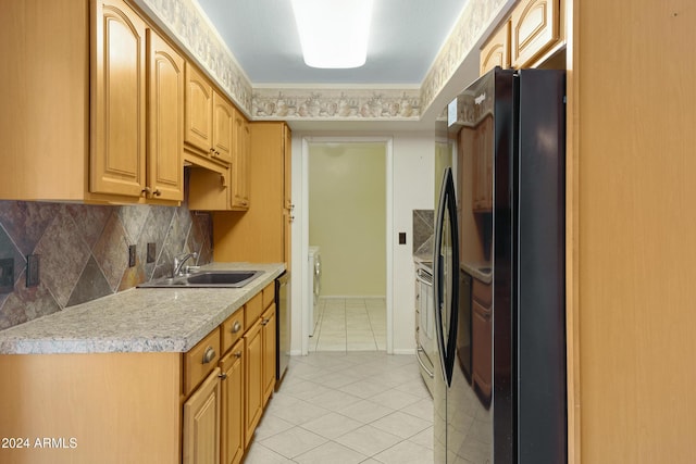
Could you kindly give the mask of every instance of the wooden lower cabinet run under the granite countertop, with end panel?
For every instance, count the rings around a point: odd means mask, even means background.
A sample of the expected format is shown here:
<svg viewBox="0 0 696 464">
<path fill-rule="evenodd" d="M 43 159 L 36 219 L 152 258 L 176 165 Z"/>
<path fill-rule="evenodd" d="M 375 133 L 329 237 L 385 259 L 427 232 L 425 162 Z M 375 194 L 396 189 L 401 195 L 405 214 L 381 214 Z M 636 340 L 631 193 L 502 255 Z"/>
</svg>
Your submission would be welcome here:
<svg viewBox="0 0 696 464">
<path fill-rule="evenodd" d="M 274 294 L 185 353 L 0 355 L 0 437 L 67 447 L 0 449 L 0 463 L 238 464 L 275 385 Z"/>
</svg>

